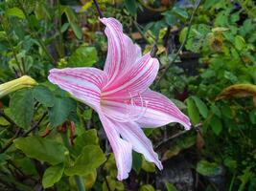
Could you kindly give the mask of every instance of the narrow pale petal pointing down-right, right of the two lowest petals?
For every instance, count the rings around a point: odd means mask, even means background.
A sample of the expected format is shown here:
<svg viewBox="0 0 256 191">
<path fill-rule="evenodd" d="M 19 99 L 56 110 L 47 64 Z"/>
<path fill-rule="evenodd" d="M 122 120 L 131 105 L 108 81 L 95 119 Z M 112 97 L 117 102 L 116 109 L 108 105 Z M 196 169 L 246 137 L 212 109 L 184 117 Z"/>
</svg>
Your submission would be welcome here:
<svg viewBox="0 0 256 191">
<path fill-rule="evenodd" d="M 154 162 L 162 170 L 163 165 L 152 149 L 151 140 L 147 138 L 136 122 L 119 123 L 117 131 L 121 137 L 132 144 L 132 149 L 144 155 L 145 159 Z"/>
</svg>

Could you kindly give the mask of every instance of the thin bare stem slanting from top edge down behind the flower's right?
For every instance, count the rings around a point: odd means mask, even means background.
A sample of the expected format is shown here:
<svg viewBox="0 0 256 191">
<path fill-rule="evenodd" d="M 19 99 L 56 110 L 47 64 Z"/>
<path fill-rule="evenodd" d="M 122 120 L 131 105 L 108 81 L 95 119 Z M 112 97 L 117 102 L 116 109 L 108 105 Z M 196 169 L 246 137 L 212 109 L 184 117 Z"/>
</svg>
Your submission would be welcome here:
<svg viewBox="0 0 256 191">
<path fill-rule="evenodd" d="M 195 10 L 192 12 L 192 15 L 190 17 L 190 21 L 189 21 L 189 26 L 188 26 L 188 31 L 186 33 L 185 39 L 182 42 L 182 44 L 180 45 L 179 49 L 177 50 L 177 52 L 175 53 L 175 57 L 174 59 L 169 62 L 169 64 L 166 66 L 163 74 L 160 75 L 160 77 L 158 78 L 158 80 L 155 82 L 154 84 L 154 88 L 157 88 L 157 86 L 159 85 L 159 82 L 161 81 L 161 79 L 164 77 L 164 75 L 167 73 L 167 71 L 170 69 L 170 67 L 172 66 L 172 64 L 175 62 L 176 58 L 178 57 L 179 53 L 182 51 L 183 47 L 185 46 L 187 39 L 189 37 L 189 33 L 191 31 L 191 27 L 192 27 L 192 21 L 194 20 L 194 16 L 196 14 L 196 12 L 198 11 L 198 7 L 200 5 L 200 0 L 198 1 L 198 6 L 195 8 Z"/>
</svg>

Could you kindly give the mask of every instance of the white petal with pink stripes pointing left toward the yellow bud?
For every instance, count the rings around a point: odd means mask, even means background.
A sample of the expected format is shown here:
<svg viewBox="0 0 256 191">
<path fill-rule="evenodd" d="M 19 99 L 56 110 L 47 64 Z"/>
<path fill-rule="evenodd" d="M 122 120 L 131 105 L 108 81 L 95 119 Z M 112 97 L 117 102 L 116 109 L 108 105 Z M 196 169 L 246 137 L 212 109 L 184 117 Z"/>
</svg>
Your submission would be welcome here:
<svg viewBox="0 0 256 191">
<path fill-rule="evenodd" d="M 108 80 L 103 71 L 95 68 L 52 69 L 48 79 L 97 111 L 101 89 Z"/>
</svg>

